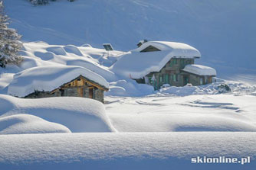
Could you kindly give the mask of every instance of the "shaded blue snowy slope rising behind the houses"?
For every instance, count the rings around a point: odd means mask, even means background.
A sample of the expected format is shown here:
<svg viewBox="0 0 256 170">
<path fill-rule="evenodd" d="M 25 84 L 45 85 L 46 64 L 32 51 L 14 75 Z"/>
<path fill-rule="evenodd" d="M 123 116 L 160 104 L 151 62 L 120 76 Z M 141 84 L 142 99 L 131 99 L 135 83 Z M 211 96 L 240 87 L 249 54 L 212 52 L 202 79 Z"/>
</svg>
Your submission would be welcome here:
<svg viewBox="0 0 256 170">
<path fill-rule="evenodd" d="M 255 1 L 103 0 L 57 1 L 33 7 L 4 1 L 11 27 L 24 41 L 50 44 L 90 43 L 131 50 L 139 40 L 183 42 L 202 53 L 199 63 L 222 78 L 256 82 Z"/>
</svg>

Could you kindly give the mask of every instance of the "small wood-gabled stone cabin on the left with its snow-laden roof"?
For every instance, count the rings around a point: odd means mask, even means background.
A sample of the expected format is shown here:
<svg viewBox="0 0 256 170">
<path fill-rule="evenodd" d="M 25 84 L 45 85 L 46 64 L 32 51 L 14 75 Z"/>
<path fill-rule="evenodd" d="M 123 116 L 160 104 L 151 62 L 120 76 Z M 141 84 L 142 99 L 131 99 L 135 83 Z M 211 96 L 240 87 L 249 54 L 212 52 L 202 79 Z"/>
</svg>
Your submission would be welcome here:
<svg viewBox="0 0 256 170">
<path fill-rule="evenodd" d="M 103 102 L 109 84 L 102 76 L 80 66 L 41 66 L 19 73 L 8 94 L 19 98 L 81 97 Z"/>
</svg>

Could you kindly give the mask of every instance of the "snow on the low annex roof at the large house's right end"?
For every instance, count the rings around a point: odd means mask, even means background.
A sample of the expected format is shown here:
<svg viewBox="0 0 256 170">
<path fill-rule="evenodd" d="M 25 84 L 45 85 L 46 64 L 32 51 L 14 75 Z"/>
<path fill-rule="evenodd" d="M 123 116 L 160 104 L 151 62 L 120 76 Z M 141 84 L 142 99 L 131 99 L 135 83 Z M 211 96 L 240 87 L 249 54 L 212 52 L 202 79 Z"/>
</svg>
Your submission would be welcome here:
<svg viewBox="0 0 256 170">
<path fill-rule="evenodd" d="M 185 72 L 190 72 L 195 75 L 216 75 L 216 70 L 212 67 L 196 65 L 196 64 L 189 64 L 182 69 Z"/>
</svg>

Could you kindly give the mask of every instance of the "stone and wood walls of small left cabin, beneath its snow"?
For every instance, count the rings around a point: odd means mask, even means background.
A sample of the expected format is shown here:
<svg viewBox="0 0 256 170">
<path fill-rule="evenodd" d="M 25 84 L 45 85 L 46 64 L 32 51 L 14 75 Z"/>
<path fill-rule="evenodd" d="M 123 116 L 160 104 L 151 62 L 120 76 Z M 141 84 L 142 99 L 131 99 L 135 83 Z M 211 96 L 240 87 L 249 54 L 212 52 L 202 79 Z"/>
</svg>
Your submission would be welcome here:
<svg viewBox="0 0 256 170">
<path fill-rule="evenodd" d="M 99 85 L 90 79 L 85 78 L 83 75 L 79 75 L 71 82 L 64 83 L 59 88 L 55 88 L 52 91 L 34 91 L 25 98 L 51 98 L 51 97 L 80 97 L 80 98 L 92 98 L 97 101 L 104 101 L 104 91 L 108 91 L 103 85 Z"/>
</svg>

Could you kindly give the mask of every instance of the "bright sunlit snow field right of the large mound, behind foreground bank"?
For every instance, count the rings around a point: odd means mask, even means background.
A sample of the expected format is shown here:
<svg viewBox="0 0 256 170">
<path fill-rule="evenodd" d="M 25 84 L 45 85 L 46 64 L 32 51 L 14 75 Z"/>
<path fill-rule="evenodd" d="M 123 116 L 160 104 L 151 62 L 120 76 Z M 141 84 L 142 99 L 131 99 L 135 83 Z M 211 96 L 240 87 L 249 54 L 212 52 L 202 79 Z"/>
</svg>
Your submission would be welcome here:
<svg viewBox="0 0 256 170">
<path fill-rule="evenodd" d="M 256 131 L 253 95 L 107 97 L 107 115 L 119 132 Z"/>
</svg>

